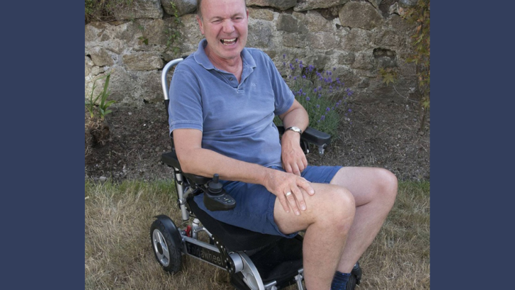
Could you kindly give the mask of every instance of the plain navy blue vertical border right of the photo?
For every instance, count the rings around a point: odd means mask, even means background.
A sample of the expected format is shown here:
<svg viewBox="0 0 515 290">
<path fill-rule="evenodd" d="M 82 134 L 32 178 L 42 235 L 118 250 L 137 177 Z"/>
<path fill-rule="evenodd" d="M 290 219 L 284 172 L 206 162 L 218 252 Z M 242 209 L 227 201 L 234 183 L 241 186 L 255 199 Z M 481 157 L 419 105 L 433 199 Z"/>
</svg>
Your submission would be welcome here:
<svg viewBox="0 0 515 290">
<path fill-rule="evenodd" d="M 434 289 L 513 287 L 513 8 L 432 6 Z"/>
</svg>

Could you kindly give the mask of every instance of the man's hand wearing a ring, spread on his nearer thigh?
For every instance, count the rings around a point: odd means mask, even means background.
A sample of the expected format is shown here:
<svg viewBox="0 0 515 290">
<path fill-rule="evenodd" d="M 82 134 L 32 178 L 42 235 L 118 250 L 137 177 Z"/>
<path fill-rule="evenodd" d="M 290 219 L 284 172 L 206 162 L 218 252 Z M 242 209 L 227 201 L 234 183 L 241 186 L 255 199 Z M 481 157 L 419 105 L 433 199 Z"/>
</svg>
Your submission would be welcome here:
<svg viewBox="0 0 515 290">
<path fill-rule="evenodd" d="M 289 212 L 292 209 L 296 215 L 301 214 L 301 210 L 306 210 L 306 202 L 301 190 L 308 192 L 308 195 L 315 194 L 311 182 L 281 170 L 269 169 L 262 185 L 277 196 L 284 211 Z"/>
</svg>

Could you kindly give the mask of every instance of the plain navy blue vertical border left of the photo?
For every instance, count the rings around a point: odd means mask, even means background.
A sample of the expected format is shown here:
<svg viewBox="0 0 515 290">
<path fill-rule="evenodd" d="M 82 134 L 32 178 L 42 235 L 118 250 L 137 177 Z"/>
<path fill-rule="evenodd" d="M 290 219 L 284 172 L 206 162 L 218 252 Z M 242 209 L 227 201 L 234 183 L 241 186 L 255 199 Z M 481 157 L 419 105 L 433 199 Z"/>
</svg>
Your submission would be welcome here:
<svg viewBox="0 0 515 290">
<path fill-rule="evenodd" d="M 81 289 L 83 4 L 1 9 L 2 286 Z"/>
</svg>

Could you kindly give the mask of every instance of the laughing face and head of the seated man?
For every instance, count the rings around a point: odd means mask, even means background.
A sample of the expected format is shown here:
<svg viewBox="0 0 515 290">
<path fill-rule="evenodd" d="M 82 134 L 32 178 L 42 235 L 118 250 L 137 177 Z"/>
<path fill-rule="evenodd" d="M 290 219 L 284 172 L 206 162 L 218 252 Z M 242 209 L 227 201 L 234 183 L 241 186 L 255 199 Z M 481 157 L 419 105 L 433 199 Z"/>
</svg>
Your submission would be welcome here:
<svg viewBox="0 0 515 290">
<path fill-rule="evenodd" d="M 202 0 L 200 31 L 209 57 L 234 59 L 247 44 L 248 11 L 245 0 Z M 208 52 L 207 52 L 208 53 Z"/>
</svg>

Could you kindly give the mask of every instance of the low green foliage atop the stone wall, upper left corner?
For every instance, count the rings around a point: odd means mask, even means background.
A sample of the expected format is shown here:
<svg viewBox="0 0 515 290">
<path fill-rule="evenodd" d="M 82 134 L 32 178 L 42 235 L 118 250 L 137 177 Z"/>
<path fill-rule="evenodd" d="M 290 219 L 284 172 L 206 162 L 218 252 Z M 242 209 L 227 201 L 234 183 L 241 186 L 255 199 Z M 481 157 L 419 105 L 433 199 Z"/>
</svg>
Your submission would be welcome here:
<svg viewBox="0 0 515 290">
<path fill-rule="evenodd" d="M 84 0 L 84 21 L 112 21 L 115 8 L 132 7 L 134 0 Z"/>
</svg>

